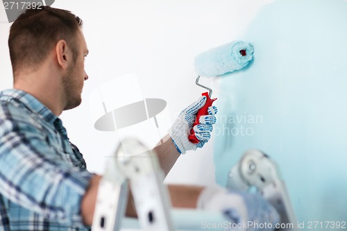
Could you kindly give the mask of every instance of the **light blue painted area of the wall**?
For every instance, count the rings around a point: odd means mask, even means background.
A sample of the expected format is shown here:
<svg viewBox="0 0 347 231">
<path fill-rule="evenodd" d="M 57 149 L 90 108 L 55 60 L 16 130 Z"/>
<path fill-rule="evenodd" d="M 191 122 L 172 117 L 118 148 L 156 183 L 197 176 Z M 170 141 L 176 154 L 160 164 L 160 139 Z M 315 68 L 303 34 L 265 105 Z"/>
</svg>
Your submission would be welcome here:
<svg viewBox="0 0 347 231">
<path fill-rule="evenodd" d="M 274 1 L 241 39 L 255 58 L 221 77 L 217 182 L 258 148 L 280 165 L 299 221 L 347 221 L 347 1 Z"/>
</svg>

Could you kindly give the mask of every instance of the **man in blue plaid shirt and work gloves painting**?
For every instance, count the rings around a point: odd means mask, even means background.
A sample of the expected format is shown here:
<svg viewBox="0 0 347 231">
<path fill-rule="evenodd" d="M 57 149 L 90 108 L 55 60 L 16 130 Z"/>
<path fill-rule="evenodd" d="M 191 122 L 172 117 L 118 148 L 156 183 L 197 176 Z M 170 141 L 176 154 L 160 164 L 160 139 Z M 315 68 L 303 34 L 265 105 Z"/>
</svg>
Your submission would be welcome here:
<svg viewBox="0 0 347 231">
<path fill-rule="evenodd" d="M 88 79 L 81 26 L 81 19 L 71 12 L 42 7 L 26 10 L 10 28 L 14 87 L 0 92 L 0 230 L 85 230 L 92 225 L 101 176 L 86 170 L 58 118 L 81 103 Z M 180 153 L 208 142 L 215 107 L 194 127 L 200 142 L 187 139 L 204 104 L 201 97 L 183 110 L 164 144 L 155 148 L 165 173 Z M 176 207 L 217 209 L 232 222 L 278 219 L 276 211 L 254 195 L 179 185 L 169 185 L 169 191 Z M 247 198 L 254 203 L 246 205 Z M 135 216 L 130 205 L 128 201 L 126 213 Z M 247 209 L 256 213 L 251 216 Z"/>
</svg>

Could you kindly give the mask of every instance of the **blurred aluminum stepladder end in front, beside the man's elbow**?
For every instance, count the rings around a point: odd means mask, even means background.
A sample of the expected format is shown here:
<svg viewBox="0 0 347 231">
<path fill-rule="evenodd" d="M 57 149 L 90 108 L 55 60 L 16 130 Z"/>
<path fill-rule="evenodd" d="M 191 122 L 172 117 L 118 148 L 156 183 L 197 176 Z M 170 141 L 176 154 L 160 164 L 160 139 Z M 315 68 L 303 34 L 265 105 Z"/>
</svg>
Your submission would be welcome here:
<svg viewBox="0 0 347 231">
<path fill-rule="evenodd" d="M 174 231 L 169 192 L 158 157 L 137 139 L 124 139 L 99 183 L 92 231 L 118 231 L 129 187 L 139 225 L 145 231 Z"/>
</svg>

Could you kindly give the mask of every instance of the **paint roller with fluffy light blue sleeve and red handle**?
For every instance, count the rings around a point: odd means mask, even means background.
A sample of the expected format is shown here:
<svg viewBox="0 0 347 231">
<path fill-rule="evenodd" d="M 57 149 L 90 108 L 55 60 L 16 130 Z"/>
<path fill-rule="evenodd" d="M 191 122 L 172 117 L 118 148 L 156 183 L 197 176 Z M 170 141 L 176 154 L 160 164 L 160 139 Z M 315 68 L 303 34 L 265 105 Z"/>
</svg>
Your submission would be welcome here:
<svg viewBox="0 0 347 231">
<path fill-rule="evenodd" d="M 196 85 L 203 87 L 208 90 L 204 92 L 202 96 L 206 96 L 206 103 L 196 114 L 194 126 L 199 123 L 199 119 L 202 115 L 208 114 L 208 108 L 212 105 L 216 99 L 211 99 L 212 89 L 205 87 L 198 83 L 200 76 L 203 77 L 217 77 L 230 74 L 232 71 L 237 71 L 248 65 L 253 59 L 253 46 L 246 42 L 235 41 L 216 48 L 204 51 L 196 56 L 194 66 L 196 74 Z M 193 126 L 193 127 L 194 127 Z M 189 141 L 198 144 L 199 139 L 196 138 L 194 129 L 190 131 Z"/>
</svg>

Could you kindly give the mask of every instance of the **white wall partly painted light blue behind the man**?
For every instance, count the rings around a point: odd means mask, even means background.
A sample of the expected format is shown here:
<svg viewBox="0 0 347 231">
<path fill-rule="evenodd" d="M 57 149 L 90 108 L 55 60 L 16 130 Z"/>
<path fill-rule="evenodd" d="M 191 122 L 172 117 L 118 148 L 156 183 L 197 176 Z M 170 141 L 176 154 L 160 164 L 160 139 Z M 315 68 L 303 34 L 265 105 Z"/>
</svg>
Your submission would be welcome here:
<svg viewBox="0 0 347 231">
<path fill-rule="evenodd" d="M 341 192 L 346 188 L 340 187 L 346 182 L 346 1 L 130 0 L 101 5 L 58 0 L 53 7 L 71 10 L 84 21 L 90 79 L 82 105 L 61 118 L 90 171 L 103 172 L 120 139 L 117 132 L 94 129 L 102 111 L 96 99 L 107 101 L 109 110 L 128 103 L 132 94 L 164 99 L 163 135 L 203 92 L 194 84 L 195 55 L 244 40 L 255 47 L 251 66 L 201 83 L 219 97 L 219 118 L 258 118 L 254 123 L 219 121 L 216 131 L 244 126 L 253 134 L 216 133 L 203 149 L 180 157 L 166 182 L 210 185 L 217 180 L 226 185 L 228 169 L 240 155 L 260 148 L 278 161 L 299 220 L 346 218 Z M 10 24 L 5 21 L 0 7 L 0 89 L 12 86 Z M 135 82 L 120 85 L 128 74 L 136 76 Z M 111 94 L 102 96 L 98 91 L 104 91 L 105 83 L 112 83 Z"/>
</svg>

